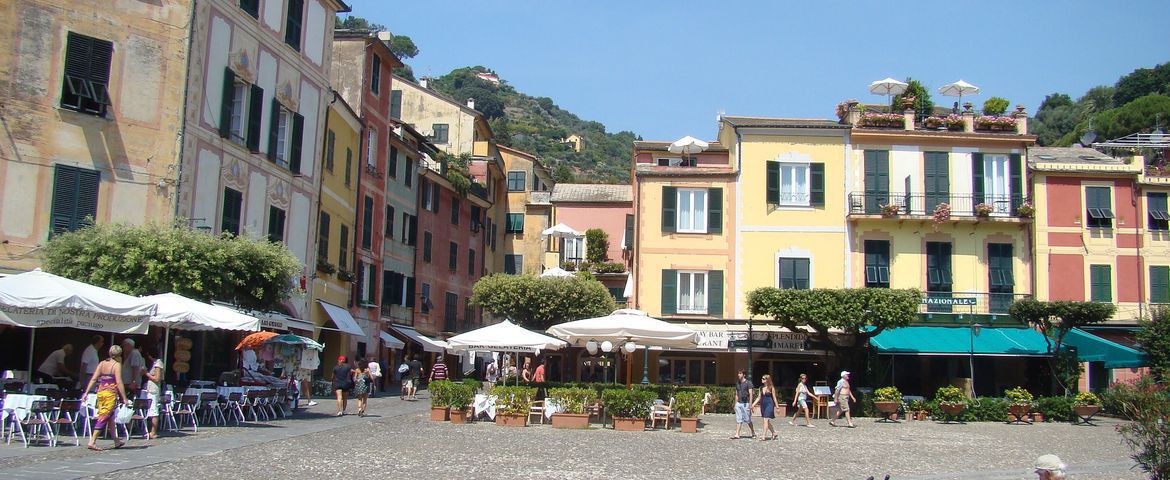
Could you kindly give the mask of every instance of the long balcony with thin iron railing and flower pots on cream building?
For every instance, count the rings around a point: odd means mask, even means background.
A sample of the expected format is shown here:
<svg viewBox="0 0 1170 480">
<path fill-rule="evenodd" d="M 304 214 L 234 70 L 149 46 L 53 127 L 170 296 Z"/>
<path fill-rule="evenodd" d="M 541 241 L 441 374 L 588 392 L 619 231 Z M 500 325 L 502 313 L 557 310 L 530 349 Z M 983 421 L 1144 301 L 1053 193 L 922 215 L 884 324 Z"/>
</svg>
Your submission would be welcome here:
<svg viewBox="0 0 1170 480">
<path fill-rule="evenodd" d="M 848 200 L 851 218 L 932 220 L 936 212 L 947 207 L 950 212 L 944 220 L 1019 221 L 1031 219 L 1034 213 L 1021 196 L 849 192 Z"/>
</svg>

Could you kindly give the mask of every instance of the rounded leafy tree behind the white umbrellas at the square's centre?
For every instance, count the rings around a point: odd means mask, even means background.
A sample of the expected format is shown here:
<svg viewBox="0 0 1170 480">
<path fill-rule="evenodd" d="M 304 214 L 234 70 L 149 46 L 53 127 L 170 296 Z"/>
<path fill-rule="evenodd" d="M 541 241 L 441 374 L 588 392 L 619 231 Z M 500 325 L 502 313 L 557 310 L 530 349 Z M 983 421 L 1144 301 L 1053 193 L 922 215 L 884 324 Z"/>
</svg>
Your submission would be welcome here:
<svg viewBox="0 0 1170 480">
<path fill-rule="evenodd" d="M 560 322 L 607 315 L 617 309 L 605 286 L 585 275 L 488 275 L 475 282 L 472 303 L 536 330 Z"/>
</svg>

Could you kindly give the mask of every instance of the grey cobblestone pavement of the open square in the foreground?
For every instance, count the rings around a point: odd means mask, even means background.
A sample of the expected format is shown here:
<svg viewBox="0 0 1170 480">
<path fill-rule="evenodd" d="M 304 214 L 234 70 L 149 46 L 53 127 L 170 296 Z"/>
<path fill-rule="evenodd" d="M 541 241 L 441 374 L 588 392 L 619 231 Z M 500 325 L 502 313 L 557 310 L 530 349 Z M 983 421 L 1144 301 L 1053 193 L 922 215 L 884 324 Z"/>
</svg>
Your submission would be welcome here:
<svg viewBox="0 0 1170 480">
<path fill-rule="evenodd" d="M 371 416 L 329 417 L 332 403 L 268 426 L 200 428 L 197 434 L 136 439 L 138 448 L 0 446 L 0 478 L 105 476 L 199 479 L 339 478 L 374 472 L 407 478 L 757 478 L 1033 479 L 1031 462 L 1057 453 L 1073 479 L 1140 479 L 1115 423 L 943 425 L 932 421 L 856 428 L 777 428 L 780 439 L 731 440 L 735 419 L 704 417 L 700 433 L 507 428 L 428 421 L 427 402 L 371 400 Z M 351 405 L 351 412 L 353 407 Z M 757 433 L 760 423 L 756 419 Z M 108 445 L 108 443 L 106 443 Z M 378 452 L 378 453 L 371 453 Z"/>
</svg>

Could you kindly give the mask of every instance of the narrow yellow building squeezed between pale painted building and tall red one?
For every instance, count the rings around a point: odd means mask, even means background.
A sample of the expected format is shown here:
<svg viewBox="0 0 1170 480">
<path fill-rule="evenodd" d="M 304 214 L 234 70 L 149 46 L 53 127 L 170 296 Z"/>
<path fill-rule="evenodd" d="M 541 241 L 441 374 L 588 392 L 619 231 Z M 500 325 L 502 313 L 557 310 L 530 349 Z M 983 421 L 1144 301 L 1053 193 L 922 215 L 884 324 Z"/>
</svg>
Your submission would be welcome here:
<svg viewBox="0 0 1170 480">
<path fill-rule="evenodd" d="M 310 282 L 309 320 L 318 328 L 318 341 L 325 345 L 322 364 L 355 351 L 357 338 L 337 330 L 325 307 L 345 308 L 352 283 L 336 273 L 338 266 L 353 262 L 353 221 L 357 212 L 357 188 L 360 174 L 358 152 L 362 148 L 362 119 L 345 100 L 333 92 L 325 119 L 324 158 L 321 162 L 321 197 L 317 205 L 317 268 Z M 324 329 L 322 329 L 324 328 Z"/>
</svg>

